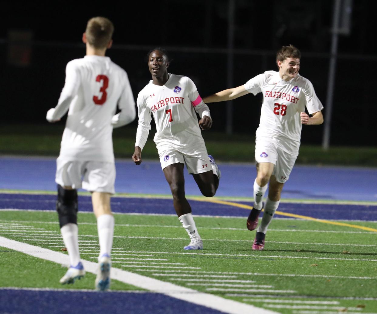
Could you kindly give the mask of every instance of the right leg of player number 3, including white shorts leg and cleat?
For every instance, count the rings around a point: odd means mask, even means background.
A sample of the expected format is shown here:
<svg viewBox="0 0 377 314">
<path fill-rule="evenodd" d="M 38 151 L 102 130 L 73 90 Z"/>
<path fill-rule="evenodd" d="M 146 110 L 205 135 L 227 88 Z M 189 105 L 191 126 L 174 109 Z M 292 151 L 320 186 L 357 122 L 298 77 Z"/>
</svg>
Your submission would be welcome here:
<svg viewBox="0 0 377 314">
<path fill-rule="evenodd" d="M 115 165 L 107 162 L 88 162 L 83 178 L 83 188 L 92 192 L 93 212 L 97 218 L 98 256 L 95 288 L 100 291 L 110 288 L 111 249 L 114 236 L 114 217 L 110 198 L 115 193 Z"/>
</svg>

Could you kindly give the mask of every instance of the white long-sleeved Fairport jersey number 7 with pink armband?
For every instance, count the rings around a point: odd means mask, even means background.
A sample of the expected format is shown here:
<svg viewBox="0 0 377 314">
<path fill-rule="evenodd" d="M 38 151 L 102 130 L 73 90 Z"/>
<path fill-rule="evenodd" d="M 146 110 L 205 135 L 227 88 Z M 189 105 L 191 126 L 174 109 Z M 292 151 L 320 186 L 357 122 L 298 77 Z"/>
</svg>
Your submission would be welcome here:
<svg viewBox="0 0 377 314">
<path fill-rule="evenodd" d="M 195 111 L 200 117 L 210 117 L 210 111 L 187 76 L 169 74 L 163 86 L 155 85 L 151 80 L 140 91 L 136 103 L 139 124 L 135 146 L 143 149 L 150 130 L 151 114 L 156 123 L 153 140 L 157 148 L 166 146 L 184 152 L 204 145 Z"/>
</svg>

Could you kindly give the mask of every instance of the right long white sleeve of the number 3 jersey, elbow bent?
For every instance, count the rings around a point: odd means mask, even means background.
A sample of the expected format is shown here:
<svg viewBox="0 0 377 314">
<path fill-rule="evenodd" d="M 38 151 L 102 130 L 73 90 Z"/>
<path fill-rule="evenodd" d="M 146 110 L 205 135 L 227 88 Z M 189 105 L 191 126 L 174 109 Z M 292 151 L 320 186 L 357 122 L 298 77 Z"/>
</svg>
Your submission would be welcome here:
<svg viewBox="0 0 377 314">
<path fill-rule="evenodd" d="M 132 89 L 127 73 L 124 73 L 124 87 L 118 101 L 120 113 L 115 114 L 111 119 L 114 128 L 123 127 L 135 120 L 136 109 L 135 100 L 133 99 Z"/>
</svg>

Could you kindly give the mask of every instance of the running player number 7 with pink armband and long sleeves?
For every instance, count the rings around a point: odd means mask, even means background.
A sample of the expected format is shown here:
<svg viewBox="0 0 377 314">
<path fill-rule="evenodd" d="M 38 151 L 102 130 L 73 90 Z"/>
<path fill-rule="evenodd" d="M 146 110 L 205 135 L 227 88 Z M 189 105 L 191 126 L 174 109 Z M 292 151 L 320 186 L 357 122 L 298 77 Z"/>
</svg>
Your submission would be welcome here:
<svg viewBox="0 0 377 314">
<path fill-rule="evenodd" d="M 139 124 L 132 160 L 136 165 L 141 164 L 141 151 L 151 128 L 152 114 L 161 168 L 172 191 L 179 221 L 190 237 L 190 243 L 184 249 L 201 250 L 203 243 L 185 198 L 183 170 L 186 165 L 204 196 L 215 195 L 221 174 L 213 157 L 208 156 L 200 130 L 209 130 L 212 119 L 194 82 L 187 76 L 168 73 L 169 61 L 162 48 L 148 53 L 152 80 L 140 91 L 136 101 Z M 199 123 L 196 113 L 201 117 Z"/>
</svg>

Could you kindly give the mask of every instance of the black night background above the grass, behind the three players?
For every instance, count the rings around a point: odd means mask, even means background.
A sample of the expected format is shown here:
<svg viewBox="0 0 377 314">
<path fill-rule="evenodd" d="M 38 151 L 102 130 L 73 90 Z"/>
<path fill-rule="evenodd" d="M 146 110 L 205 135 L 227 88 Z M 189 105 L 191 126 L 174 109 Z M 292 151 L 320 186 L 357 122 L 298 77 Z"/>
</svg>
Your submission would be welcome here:
<svg viewBox="0 0 377 314">
<path fill-rule="evenodd" d="M 146 53 L 165 47 L 170 72 L 193 79 L 202 97 L 276 70 L 275 53 L 293 44 L 302 52 L 300 74 L 313 83 L 326 115 L 333 1 L 234 0 L 234 75 L 227 84 L 228 0 L 159 2 L 38 2 L 8 4 L 0 21 L 0 123 L 47 123 L 64 85 L 68 61 L 85 55 L 87 20 L 113 21 L 107 56 L 130 78 L 135 101 L 150 80 Z M 339 35 L 330 145 L 375 146 L 374 2 L 352 2 L 349 35 Z M 233 131 L 254 135 L 261 94 L 233 101 Z M 209 104 L 213 129 L 225 132 L 226 104 Z M 135 127 L 137 119 L 132 123 Z M 303 128 L 302 142 L 321 144 L 323 125 Z"/>
</svg>

